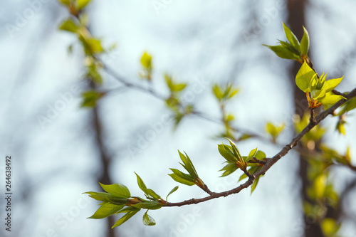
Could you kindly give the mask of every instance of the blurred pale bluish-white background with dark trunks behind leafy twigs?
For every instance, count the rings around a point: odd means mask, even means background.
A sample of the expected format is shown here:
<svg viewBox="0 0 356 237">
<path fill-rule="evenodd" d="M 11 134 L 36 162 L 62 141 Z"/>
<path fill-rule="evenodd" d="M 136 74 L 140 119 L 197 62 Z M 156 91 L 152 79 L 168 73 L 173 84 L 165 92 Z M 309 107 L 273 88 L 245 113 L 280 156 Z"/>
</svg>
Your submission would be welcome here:
<svg viewBox="0 0 356 237">
<path fill-rule="evenodd" d="M 303 211 L 308 163 L 295 151 L 261 178 L 253 195 L 246 189 L 204 204 L 150 211 L 156 226 L 144 226 L 141 214 L 114 229 L 110 226 L 118 216 L 87 219 L 98 201 L 82 193 L 101 191 L 99 181 L 125 184 L 132 195 L 143 196 L 136 172 L 166 196 L 177 185 L 167 176 L 169 168 L 179 168 L 177 149 L 189 154 L 212 191 L 234 188 L 241 173 L 219 178 L 224 159 L 216 144 L 225 142 L 214 137 L 222 130 L 219 123 L 188 116 L 174 130 L 167 120 L 172 112 L 150 94 L 126 88 L 105 96 L 95 109 L 81 108 L 80 95 L 88 90 L 83 50 L 73 34 L 58 30 L 67 9 L 54 0 L 1 1 L 0 6 L 0 150 L 3 157 L 13 157 L 14 194 L 11 233 L 1 223 L 0 236 L 323 236 L 320 210 Z M 355 9 L 355 1 L 347 0 L 93 0 L 85 11 L 93 36 L 105 47 L 117 43 L 103 62 L 133 83 L 144 83 L 137 73 L 147 51 L 155 90 L 169 95 L 164 73 L 170 73 L 191 86 L 187 92 L 193 93 L 185 99 L 214 118 L 221 116 L 211 93 L 214 83 L 238 86 L 241 91 L 228 106 L 234 125 L 266 139 L 237 145 L 243 154 L 258 147 L 273 157 L 293 138 L 293 115 L 303 114 L 305 95 L 295 92 L 300 65 L 262 44 L 285 39 L 282 22 L 298 38 L 305 26 L 314 68 L 328 72 L 328 78 L 345 75 L 337 89 L 351 90 L 356 85 Z M 104 89 L 120 85 L 102 73 Z M 278 144 L 268 141 L 268 121 L 286 124 Z M 323 142 L 340 154 L 356 145 L 355 117 L 347 122 L 345 136 L 335 132 L 337 118 L 322 122 Z M 355 148 L 351 157 L 355 164 Z M 1 177 L 4 167 L 1 162 Z M 332 217 L 342 223 L 335 236 L 356 236 L 355 172 L 339 166 L 329 176 L 340 201 Z M 4 184 L 1 178 L 1 196 Z M 169 201 L 204 196 L 197 187 L 181 184 Z M 4 205 L 1 198 L 1 219 Z"/>
</svg>

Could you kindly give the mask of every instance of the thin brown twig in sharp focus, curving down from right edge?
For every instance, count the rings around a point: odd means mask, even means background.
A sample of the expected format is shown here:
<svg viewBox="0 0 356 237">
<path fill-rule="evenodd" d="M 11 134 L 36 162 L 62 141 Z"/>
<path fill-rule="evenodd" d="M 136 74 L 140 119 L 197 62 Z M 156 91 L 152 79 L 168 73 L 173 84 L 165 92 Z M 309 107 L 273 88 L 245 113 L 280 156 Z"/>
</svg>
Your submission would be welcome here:
<svg viewBox="0 0 356 237">
<path fill-rule="evenodd" d="M 354 97 L 356 97 L 356 88 L 345 96 L 345 98 L 347 98 L 347 99 L 354 98 Z M 327 117 L 328 115 L 333 115 L 333 112 L 337 109 L 337 107 L 340 107 L 345 102 L 346 102 L 346 100 L 339 100 L 338 102 L 335 103 L 335 105 L 330 107 L 328 110 L 321 112 L 317 117 L 315 117 L 314 122 L 310 122 L 307 125 L 307 127 L 304 128 L 304 130 L 302 132 L 300 132 L 296 137 L 294 137 L 289 144 L 287 144 L 285 147 L 283 147 L 281 152 L 278 152 L 274 157 L 272 157 L 271 159 L 268 159 L 268 162 L 266 162 L 266 164 L 263 166 L 263 168 L 260 171 L 256 172 L 256 174 L 250 174 L 248 176 L 248 180 L 244 184 L 241 184 L 240 186 L 236 187 L 235 189 L 231 189 L 229 191 L 223 191 L 220 193 L 212 193 L 210 196 L 206 196 L 201 199 L 189 199 L 186 201 L 181 201 L 181 202 L 176 202 L 176 203 L 164 201 L 162 203 L 163 206 L 185 206 L 185 205 L 191 205 L 191 204 L 199 204 L 201 202 L 209 201 L 211 199 L 217 199 L 221 196 L 229 196 L 231 194 L 238 194 L 241 190 L 248 188 L 248 186 L 251 186 L 251 184 L 253 184 L 253 181 L 257 177 L 260 177 L 261 175 L 266 174 L 268 169 L 270 169 L 273 166 L 273 164 L 276 164 L 276 162 L 278 162 L 279 159 L 284 157 L 290 151 L 290 149 L 293 149 L 293 147 L 295 147 L 298 144 L 300 139 L 307 132 L 309 132 L 313 127 L 315 127 L 321 121 L 323 121 L 325 119 L 325 117 Z"/>
</svg>

